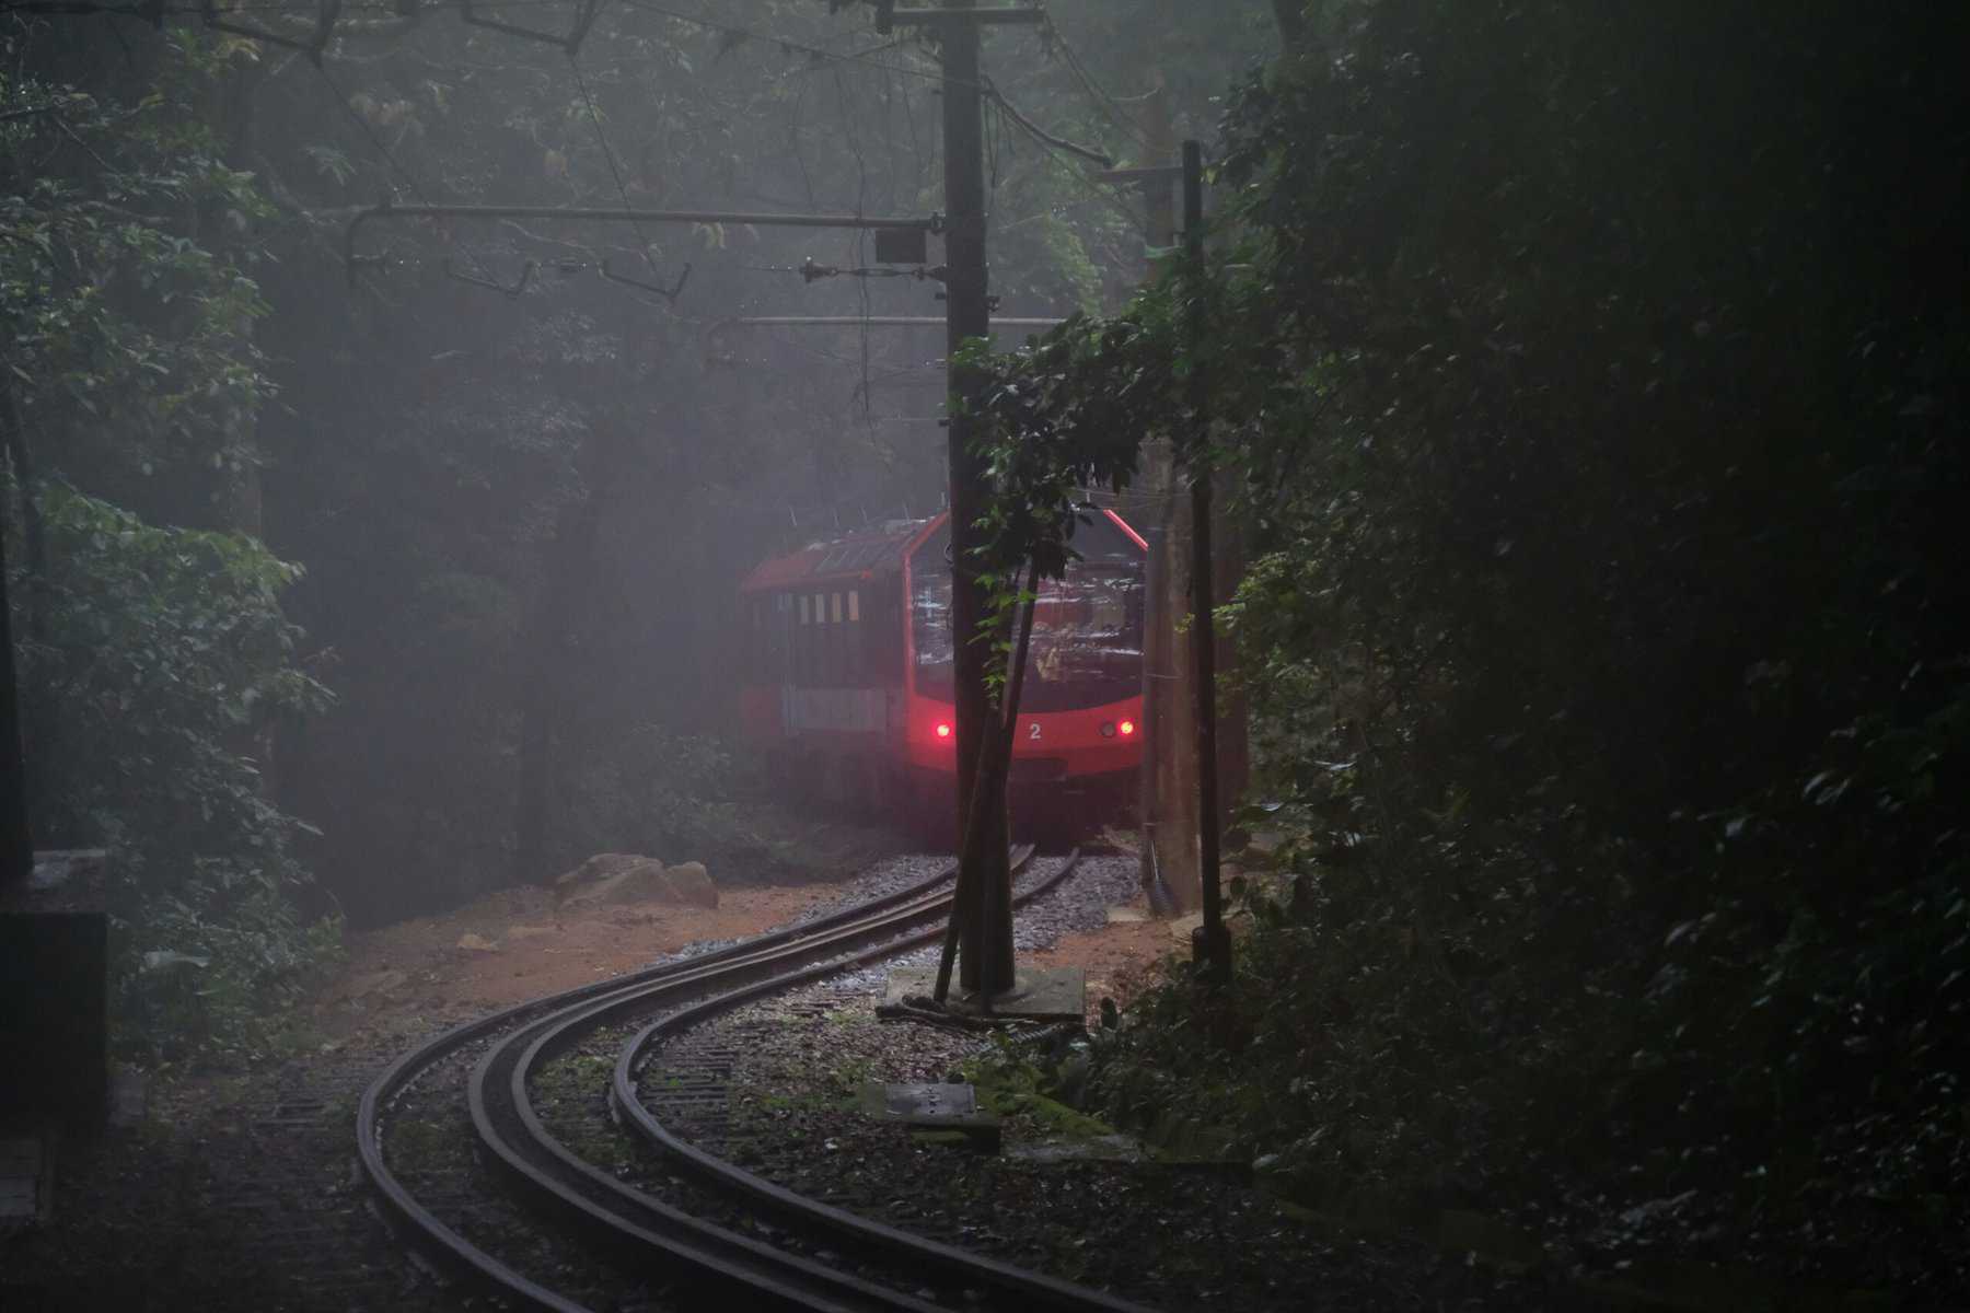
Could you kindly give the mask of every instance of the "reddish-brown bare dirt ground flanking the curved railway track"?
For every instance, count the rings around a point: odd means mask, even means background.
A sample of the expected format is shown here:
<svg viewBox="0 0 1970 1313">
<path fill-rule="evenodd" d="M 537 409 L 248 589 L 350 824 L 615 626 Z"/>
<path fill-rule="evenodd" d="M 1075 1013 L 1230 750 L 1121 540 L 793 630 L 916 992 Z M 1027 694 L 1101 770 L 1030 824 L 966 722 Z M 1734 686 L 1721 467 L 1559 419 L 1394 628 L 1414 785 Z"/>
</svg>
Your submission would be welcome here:
<svg viewBox="0 0 1970 1313">
<path fill-rule="evenodd" d="M 835 870 L 865 868 L 865 856 Z M 0 1309 L 479 1307 L 433 1283 L 372 1215 L 368 1185 L 351 1171 L 362 1087 L 443 1026 L 693 941 L 756 933 L 839 894 L 820 872 L 788 870 L 778 884 L 778 870 L 743 874 L 766 878 L 721 888 L 715 909 L 634 904 L 556 917 L 546 890 L 508 890 L 351 933 L 343 967 L 301 1006 L 309 1041 L 297 1053 L 238 1073 L 175 1073 L 152 1085 L 134 1122 L 63 1144 L 51 1222 L 0 1230 Z M 1141 967 L 1172 947 L 1168 923 L 1123 921 L 1030 957 L 1085 967 L 1099 1004 L 1127 998 Z"/>
</svg>

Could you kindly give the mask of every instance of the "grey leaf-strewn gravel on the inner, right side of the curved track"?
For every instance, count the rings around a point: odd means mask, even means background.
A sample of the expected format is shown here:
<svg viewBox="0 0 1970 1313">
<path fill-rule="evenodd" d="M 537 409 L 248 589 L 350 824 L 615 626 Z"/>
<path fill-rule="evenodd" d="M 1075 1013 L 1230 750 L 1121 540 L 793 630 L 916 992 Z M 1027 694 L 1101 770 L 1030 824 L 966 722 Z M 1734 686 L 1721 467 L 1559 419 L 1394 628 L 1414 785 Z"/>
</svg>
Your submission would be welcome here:
<svg viewBox="0 0 1970 1313">
<path fill-rule="evenodd" d="M 1022 880 L 1038 880 L 1038 858 Z M 1022 951 L 1095 929 L 1135 892 L 1135 862 L 1084 860 L 1062 888 L 1017 913 Z M 751 1171 L 867 1217 L 1160 1307 L 1458 1309 L 1495 1305 L 1487 1278 L 1411 1244 L 1334 1240 L 1292 1220 L 1233 1171 L 1085 1157 L 1087 1142 L 1040 1116 L 1005 1120 L 999 1154 L 930 1142 L 857 1108 L 869 1081 L 942 1081 L 989 1039 L 875 1018 L 888 970 L 936 949 L 739 1008 L 678 1041 L 729 1055 L 727 1098 L 674 1128 Z M 652 1065 L 662 1081 L 666 1061 Z M 666 1114 L 662 1100 L 656 1104 Z"/>
</svg>

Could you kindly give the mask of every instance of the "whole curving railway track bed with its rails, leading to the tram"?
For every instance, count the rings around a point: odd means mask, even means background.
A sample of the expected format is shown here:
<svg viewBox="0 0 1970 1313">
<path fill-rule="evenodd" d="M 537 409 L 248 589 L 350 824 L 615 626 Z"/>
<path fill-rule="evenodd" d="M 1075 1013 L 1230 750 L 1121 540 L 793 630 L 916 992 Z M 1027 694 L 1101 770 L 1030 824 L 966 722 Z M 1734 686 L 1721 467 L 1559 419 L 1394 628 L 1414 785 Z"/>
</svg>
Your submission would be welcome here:
<svg viewBox="0 0 1970 1313">
<path fill-rule="evenodd" d="M 1018 868 L 1030 856 L 1015 852 Z M 1015 902 L 1054 888 L 1076 860 Z M 508 1307 L 676 1307 L 666 1295 L 691 1287 L 743 1307 L 839 1313 L 1139 1309 L 796 1195 L 703 1152 L 646 1106 L 638 1085 L 666 1041 L 753 998 L 936 939 L 950 886 L 946 870 L 806 925 L 449 1030 L 364 1091 L 362 1169 L 420 1248 Z M 723 1100 L 701 1061 L 684 1075 L 701 1098 Z M 451 1148 L 433 1154 L 433 1142 Z"/>
</svg>

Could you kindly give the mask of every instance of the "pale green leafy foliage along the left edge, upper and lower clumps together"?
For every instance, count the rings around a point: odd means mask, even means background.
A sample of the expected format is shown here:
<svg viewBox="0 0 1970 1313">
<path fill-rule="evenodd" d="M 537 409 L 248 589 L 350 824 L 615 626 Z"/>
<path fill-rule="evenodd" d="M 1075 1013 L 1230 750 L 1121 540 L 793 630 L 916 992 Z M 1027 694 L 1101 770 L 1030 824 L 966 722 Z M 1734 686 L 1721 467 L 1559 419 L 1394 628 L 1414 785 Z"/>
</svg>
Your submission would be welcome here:
<svg viewBox="0 0 1970 1313">
<path fill-rule="evenodd" d="M 272 384 L 246 268 L 270 207 L 209 112 L 236 43 L 152 55 L 124 102 L 0 75 L 20 110 L 0 120 L 0 429 L 30 811 L 45 846 L 110 850 L 118 1043 L 252 1057 L 337 943 L 335 919 L 301 923 L 305 827 L 260 776 L 274 724 L 327 691 L 280 606 L 297 567 L 246 533 L 162 528 L 250 502 Z"/>
</svg>

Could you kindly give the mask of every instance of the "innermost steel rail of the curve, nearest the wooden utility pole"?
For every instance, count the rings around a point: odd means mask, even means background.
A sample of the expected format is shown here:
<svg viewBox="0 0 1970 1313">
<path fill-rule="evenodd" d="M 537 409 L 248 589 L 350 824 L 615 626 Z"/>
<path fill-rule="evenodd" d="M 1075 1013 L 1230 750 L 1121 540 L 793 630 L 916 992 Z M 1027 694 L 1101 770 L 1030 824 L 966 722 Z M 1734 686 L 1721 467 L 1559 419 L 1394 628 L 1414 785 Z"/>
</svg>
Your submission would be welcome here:
<svg viewBox="0 0 1970 1313">
<path fill-rule="evenodd" d="M 1064 880 L 1074 864 L 1080 860 L 1080 850 L 1068 856 L 1068 862 L 1054 872 L 1042 886 L 1026 890 L 1013 902 L 1020 906 L 1032 898 L 1038 898 L 1054 884 Z M 900 941 L 883 949 L 883 955 L 900 951 L 904 947 L 932 943 L 942 935 L 942 929 L 932 929 L 922 935 L 914 935 L 910 941 Z M 869 957 L 877 957 L 871 953 Z M 1085 1285 L 1076 1285 L 1060 1278 L 1046 1276 L 1042 1272 L 1032 1272 L 1028 1268 L 1018 1268 L 1013 1264 L 975 1254 L 971 1250 L 957 1248 L 953 1244 L 944 1244 L 942 1240 L 930 1240 L 928 1236 L 910 1234 L 886 1222 L 879 1222 L 847 1209 L 837 1209 L 833 1205 L 810 1199 L 796 1191 L 776 1185 L 745 1167 L 739 1167 L 715 1154 L 690 1144 L 670 1128 L 666 1128 L 636 1093 L 636 1081 L 642 1075 L 642 1057 L 656 1043 L 670 1039 L 697 1022 L 709 1016 L 727 1012 L 743 1002 L 758 998 L 760 994 L 770 994 L 796 984 L 806 984 L 816 980 L 829 970 L 839 970 L 837 965 L 808 967 L 802 970 L 788 972 L 786 976 L 776 976 L 772 980 L 762 980 L 756 984 L 747 984 L 743 988 L 731 990 L 727 994 L 717 994 L 703 1002 L 691 1004 L 678 1012 L 670 1012 L 623 1045 L 617 1055 L 615 1077 L 611 1081 L 611 1096 L 617 1114 L 623 1122 L 634 1130 L 638 1136 L 648 1140 L 652 1146 L 674 1157 L 678 1163 L 688 1167 L 693 1175 L 699 1175 L 717 1187 L 749 1197 L 751 1201 L 772 1209 L 784 1217 L 796 1219 L 806 1226 L 821 1226 L 837 1234 L 853 1238 L 857 1244 L 867 1244 L 881 1250 L 890 1250 L 906 1254 L 910 1260 L 946 1272 L 953 1278 L 961 1278 L 969 1283 L 991 1285 L 993 1289 L 1009 1291 L 1018 1295 L 1022 1301 L 1036 1303 L 1050 1309 L 1101 1309 L 1103 1313 L 1150 1313 L 1145 1305 L 1133 1303 L 1119 1295 L 1109 1295 L 1107 1291 L 1089 1289 Z M 514 1083 L 518 1085 L 526 1075 L 524 1069 L 514 1073 Z M 621 1183 L 617 1183 L 621 1185 Z M 621 1187 L 628 1189 L 628 1187 Z"/>
</svg>

